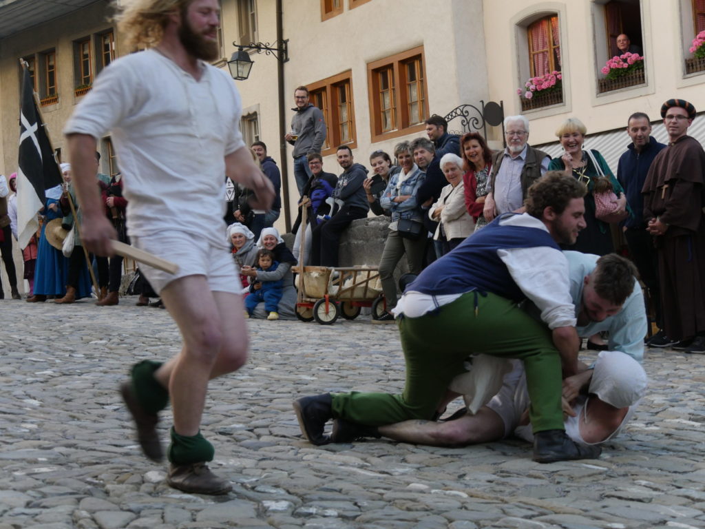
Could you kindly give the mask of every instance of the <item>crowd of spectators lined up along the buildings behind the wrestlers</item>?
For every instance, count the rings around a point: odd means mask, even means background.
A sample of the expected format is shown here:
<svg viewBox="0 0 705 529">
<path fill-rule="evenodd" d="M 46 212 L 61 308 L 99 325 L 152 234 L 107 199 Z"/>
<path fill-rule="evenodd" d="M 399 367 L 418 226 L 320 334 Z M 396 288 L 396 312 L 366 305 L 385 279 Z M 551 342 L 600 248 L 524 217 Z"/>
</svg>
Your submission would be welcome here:
<svg viewBox="0 0 705 529">
<path fill-rule="evenodd" d="M 292 267 L 338 267 L 342 233 L 355 219 L 364 219 L 372 210 L 372 214 L 389 221 L 379 258 L 386 310 L 373 322 L 393 322 L 398 299 L 394 274 L 403 257 L 409 272 L 419 274 L 496 217 L 525 212 L 529 187 L 546 171 L 555 170 L 570 174 L 587 188 L 586 227 L 574 244 L 562 248 L 600 256 L 615 251 L 629 255 L 639 270 L 647 310 L 656 324 L 648 345 L 705 353 L 705 164 L 701 146 L 687 136 L 687 127 L 694 118 L 691 104 L 679 99 L 664 104 L 661 114 L 670 135 L 670 148 L 665 154 L 661 151 L 667 146 L 651 136 L 649 116 L 642 112 L 629 116 L 627 134 L 632 142 L 620 157 L 616 171 L 598 151 L 584 148 L 587 128 L 577 118 L 566 119 L 556 130 L 563 154 L 551 159 L 546 152 L 529 145 L 529 121 L 525 116 L 505 118 L 506 147 L 493 152 L 479 133 L 449 133 L 447 121 L 434 114 L 426 120 L 424 137 L 399 142 L 391 153 L 372 152 L 369 169 L 355 161 L 350 147 L 341 145 L 336 150 L 340 166 L 336 176 L 324 171 L 323 114 L 309 102 L 305 86 L 296 88 L 294 98 L 295 114 L 284 137 L 293 145 L 295 182 L 300 195 L 291 249 L 274 229 L 281 212 L 281 173 L 264 142 L 254 142 L 250 148 L 253 159 L 276 190 L 270 209 L 253 209 L 252 191 L 226 178 L 227 240 L 240 268 L 248 316 L 269 320 L 295 318 Z M 99 173 L 99 159 L 96 153 L 97 186 L 106 217 L 116 228 L 118 238 L 129 242 L 121 175 Z M 673 167 L 681 165 L 688 171 L 673 171 Z M 122 258 L 84 254 L 79 233 L 73 233 L 73 250 L 63 244 L 74 218 L 80 221 L 81 213 L 80 208 L 74 211 L 71 207 L 73 202 L 78 208 L 71 185 L 71 166 L 61 164 L 61 169 L 65 183 L 47 190 L 47 202 L 39 214 L 41 227 L 22 249 L 23 277 L 30 286 L 27 301 L 53 299 L 54 303 L 63 304 L 90 297 L 90 269 L 94 269 L 97 304 L 116 305 Z M 603 187 L 613 199 L 611 214 L 605 214 L 599 200 Z M 0 250 L 13 299 L 20 298 L 18 272 L 12 259 L 16 219 L 16 174 L 8 179 L 1 176 Z M 687 273 L 682 269 L 681 257 L 688 263 Z M 138 305 L 147 305 L 149 298 L 157 297 L 139 271 L 133 281 L 133 293 L 140 294 Z M 1 290 L 0 295 L 4 296 Z M 151 305 L 161 303 L 157 299 Z M 588 348 L 603 350 L 604 338 L 600 334 L 590 336 Z"/>
</svg>

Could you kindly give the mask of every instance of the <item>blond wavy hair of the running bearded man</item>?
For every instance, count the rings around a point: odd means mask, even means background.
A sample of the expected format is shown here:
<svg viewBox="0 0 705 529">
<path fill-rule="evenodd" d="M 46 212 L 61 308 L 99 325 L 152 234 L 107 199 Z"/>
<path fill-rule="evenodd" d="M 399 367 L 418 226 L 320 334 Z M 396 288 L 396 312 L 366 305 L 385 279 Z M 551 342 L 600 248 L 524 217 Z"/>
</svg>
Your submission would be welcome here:
<svg viewBox="0 0 705 529">
<path fill-rule="evenodd" d="M 114 0 L 113 20 L 130 48 L 159 44 L 168 16 L 183 13 L 192 0 Z"/>
</svg>

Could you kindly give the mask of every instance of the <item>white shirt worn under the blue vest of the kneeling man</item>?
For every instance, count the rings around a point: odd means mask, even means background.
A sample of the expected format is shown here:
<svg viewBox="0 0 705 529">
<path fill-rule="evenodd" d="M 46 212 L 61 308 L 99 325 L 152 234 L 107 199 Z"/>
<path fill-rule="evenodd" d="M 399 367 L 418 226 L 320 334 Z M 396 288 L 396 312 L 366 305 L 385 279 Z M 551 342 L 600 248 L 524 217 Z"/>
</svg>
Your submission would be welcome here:
<svg viewBox="0 0 705 529">
<path fill-rule="evenodd" d="M 548 231 L 543 222 L 528 213 L 512 215 L 500 219 L 499 222 L 502 226 L 523 226 Z M 549 329 L 575 327 L 577 318 L 575 305 L 570 297 L 568 259 L 563 252 L 548 246 L 535 246 L 497 250 L 497 255 L 517 286 L 540 310 L 541 320 Z M 394 308 L 394 314 L 419 317 L 434 310 L 436 306 L 453 302 L 460 296 L 462 294 L 431 296 L 407 291 Z"/>
</svg>

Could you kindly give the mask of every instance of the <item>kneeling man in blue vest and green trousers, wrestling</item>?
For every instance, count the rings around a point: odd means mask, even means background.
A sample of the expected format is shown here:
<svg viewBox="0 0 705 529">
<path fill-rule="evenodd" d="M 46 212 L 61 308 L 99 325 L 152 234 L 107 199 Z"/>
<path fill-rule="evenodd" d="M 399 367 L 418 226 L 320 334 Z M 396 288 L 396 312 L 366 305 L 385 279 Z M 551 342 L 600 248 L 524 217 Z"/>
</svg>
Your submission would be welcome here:
<svg viewBox="0 0 705 529">
<path fill-rule="evenodd" d="M 599 447 L 576 444 L 565 434 L 561 408 L 563 376 L 578 372 L 580 339 L 568 260 L 558 244 L 574 243 L 585 227 L 585 193 L 574 178 L 551 171 L 529 188 L 526 213 L 501 215 L 424 269 L 395 311 L 406 361 L 403 393 L 298 399 L 293 406 L 304 436 L 329 443 L 324 427 L 336 418 L 368 432 L 432 419 L 450 381 L 465 371 L 467 356 L 484 353 L 524 363 L 534 461 L 599 456 Z M 541 321 L 520 308 L 525 299 L 537 305 Z"/>
</svg>

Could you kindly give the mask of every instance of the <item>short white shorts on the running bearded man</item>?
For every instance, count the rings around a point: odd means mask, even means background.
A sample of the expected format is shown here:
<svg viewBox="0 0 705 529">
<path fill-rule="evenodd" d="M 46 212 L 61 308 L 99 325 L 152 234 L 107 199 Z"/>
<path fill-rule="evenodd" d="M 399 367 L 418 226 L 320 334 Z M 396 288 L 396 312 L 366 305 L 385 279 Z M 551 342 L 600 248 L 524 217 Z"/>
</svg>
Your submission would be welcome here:
<svg viewBox="0 0 705 529">
<path fill-rule="evenodd" d="M 175 262 L 176 274 L 169 274 L 149 265 L 140 263 L 145 274 L 158 294 L 171 281 L 185 276 L 205 276 L 212 292 L 240 293 L 240 271 L 231 253 L 222 246 L 214 246 L 206 238 L 185 231 L 159 231 L 145 236 L 130 236 L 135 248 L 153 253 L 157 257 Z"/>
</svg>

